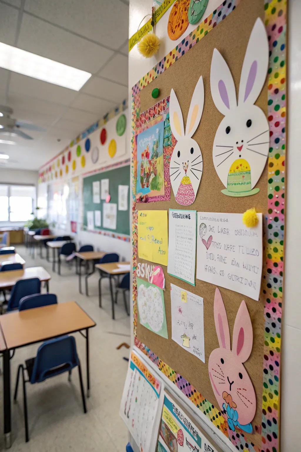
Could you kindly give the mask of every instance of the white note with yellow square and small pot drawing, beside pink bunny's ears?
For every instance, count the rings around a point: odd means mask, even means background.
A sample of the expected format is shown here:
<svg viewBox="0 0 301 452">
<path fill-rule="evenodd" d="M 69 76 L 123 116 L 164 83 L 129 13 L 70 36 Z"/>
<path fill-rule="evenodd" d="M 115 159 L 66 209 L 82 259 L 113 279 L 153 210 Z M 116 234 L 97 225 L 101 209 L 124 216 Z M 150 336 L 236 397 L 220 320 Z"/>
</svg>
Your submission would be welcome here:
<svg viewBox="0 0 301 452">
<path fill-rule="evenodd" d="M 171 339 L 205 362 L 203 298 L 171 284 Z"/>
</svg>

